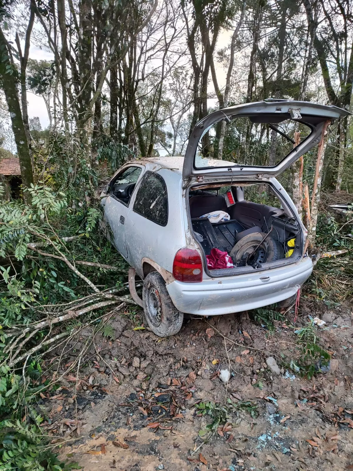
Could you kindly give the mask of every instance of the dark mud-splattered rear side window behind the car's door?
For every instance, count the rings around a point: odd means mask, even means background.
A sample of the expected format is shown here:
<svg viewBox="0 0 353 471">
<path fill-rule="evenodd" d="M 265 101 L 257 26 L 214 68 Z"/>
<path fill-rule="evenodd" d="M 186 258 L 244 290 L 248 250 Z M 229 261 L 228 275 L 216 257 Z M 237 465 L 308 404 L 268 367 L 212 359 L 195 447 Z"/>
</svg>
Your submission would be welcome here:
<svg viewBox="0 0 353 471">
<path fill-rule="evenodd" d="M 158 173 L 146 172 L 144 175 L 137 190 L 134 211 L 160 226 L 167 226 L 167 187 Z"/>
</svg>

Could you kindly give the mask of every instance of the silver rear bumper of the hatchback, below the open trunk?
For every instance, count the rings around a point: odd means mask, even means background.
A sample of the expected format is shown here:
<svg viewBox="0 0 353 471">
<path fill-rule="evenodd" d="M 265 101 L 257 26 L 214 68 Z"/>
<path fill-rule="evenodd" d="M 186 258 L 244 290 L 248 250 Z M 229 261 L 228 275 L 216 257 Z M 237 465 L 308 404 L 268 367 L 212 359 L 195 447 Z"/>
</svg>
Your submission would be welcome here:
<svg viewBox="0 0 353 471">
<path fill-rule="evenodd" d="M 201 283 L 173 281 L 167 284 L 167 290 L 179 311 L 218 316 L 287 299 L 296 294 L 298 285 L 301 286 L 312 271 L 313 263 L 305 257 L 292 265 L 256 274 L 208 278 Z"/>
</svg>

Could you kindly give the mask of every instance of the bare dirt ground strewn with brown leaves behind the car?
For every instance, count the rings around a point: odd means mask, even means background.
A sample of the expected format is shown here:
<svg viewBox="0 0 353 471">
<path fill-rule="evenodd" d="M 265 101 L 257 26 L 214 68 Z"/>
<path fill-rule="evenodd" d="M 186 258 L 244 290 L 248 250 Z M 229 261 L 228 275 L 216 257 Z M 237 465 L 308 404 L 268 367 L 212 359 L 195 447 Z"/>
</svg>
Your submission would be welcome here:
<svg viewBox="0 0 353 471">
<path fill-rule="evenodd" d="M 63 460 L 85 471 L 353 469 L 352 306 L 314 306 L 302 300 L 294 327 L 293 312 L 270 327 L 242 313 L 185 320 L 167 339 L 113 314 L 111 338 L 96 334 L 80 373 L 43 398 L 44 427 L 67 440 Z M 331 353 L 329 371 L 310 380 L 288 366 L 308 315 L 326 321 L 318 334 Z M 91 337 L 81 331 L 66 366 Z M 213 420 L 202 402 L 227 399 L 226 420 L 200 436 Z"/>
</svg>

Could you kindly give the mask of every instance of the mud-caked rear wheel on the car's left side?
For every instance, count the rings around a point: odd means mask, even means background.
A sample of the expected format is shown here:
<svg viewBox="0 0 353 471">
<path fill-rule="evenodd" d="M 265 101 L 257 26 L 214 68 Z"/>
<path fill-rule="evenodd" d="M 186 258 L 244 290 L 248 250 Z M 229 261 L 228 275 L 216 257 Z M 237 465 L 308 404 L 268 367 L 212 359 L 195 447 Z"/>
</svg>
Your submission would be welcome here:
<svg viewBox="0 0 353 471">
<path fill-rule="evenodd" d="M 145 277 L 142 300 L 144 320 L 153 333 L 169 337 L 179 332 L 184 314 L 174 306 L 166 284 L 157 271 L 152 271 Z"/>
</svg>

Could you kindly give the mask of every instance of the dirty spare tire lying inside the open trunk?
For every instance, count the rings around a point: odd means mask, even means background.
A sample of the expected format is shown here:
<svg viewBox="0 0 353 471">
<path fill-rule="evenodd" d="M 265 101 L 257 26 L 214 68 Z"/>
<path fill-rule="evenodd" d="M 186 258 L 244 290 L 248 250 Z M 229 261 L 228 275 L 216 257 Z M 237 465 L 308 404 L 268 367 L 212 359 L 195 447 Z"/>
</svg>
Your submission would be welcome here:
<svg viewBox="0 0 353 471">
<path fill-rule="evenodd" d="M 236 267 L 258 266 L 284 256 L 281 244 L 264 232 L 245 235 L 234 245 L 229 255 Z"/>
</svg>

